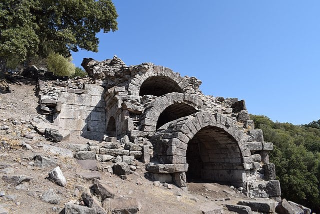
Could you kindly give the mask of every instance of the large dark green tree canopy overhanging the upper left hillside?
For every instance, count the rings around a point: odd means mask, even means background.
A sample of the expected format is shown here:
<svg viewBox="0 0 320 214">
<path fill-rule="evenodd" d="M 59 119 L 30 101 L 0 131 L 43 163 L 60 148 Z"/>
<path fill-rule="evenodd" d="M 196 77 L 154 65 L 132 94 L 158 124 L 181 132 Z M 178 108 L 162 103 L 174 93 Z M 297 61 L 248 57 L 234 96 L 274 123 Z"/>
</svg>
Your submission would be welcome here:
<svg viewBox="0 0 320 214">
<path fill-rule="evenodd" d="M 116 18 L 110 0 L 1 0 L 0 63 L 14 67 L 51 52 L 69 57 L 78 48 L 97 52 L 96 34 L 117 30 Z"/>
</svg>

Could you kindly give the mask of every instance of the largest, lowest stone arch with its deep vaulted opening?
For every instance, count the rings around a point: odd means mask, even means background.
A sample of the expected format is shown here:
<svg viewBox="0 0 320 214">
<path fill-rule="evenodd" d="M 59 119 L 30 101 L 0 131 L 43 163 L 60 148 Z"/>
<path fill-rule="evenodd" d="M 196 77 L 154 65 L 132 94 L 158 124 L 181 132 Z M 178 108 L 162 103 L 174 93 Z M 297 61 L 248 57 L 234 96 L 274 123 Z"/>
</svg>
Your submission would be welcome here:
<svg viewBox="0 0 320 214">
<path fill-rule="evenodd" d="M 244 186 L 246 164 L 252 164 L 245 139 L 231 118 L 197 112 L 165 124 L 151 142 L 156 161 L 185 165 L 175 172 L 186 178 Z"/>
</svg>

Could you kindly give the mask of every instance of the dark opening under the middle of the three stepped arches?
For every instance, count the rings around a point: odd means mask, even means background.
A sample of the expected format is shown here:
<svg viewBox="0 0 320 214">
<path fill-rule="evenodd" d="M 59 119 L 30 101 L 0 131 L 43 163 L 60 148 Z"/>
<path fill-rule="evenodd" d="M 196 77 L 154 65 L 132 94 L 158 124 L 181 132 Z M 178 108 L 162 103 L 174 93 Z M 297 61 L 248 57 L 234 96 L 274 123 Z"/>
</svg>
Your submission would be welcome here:
<svg viewBox="0 0 320 214">
<path fill-rule="evenodd" d="M 189 106 L 185 103 L 174 103 L 165 108 L 159 115 L 158 120 L 156 122 L 156 129 L 158 129 L 165 123 L 168 123 L 181 117 L 188 116 L 195 112 L 197 112 L 197 110 L 195 110 L 195 108 L 192 106 Z"/>
</svg>

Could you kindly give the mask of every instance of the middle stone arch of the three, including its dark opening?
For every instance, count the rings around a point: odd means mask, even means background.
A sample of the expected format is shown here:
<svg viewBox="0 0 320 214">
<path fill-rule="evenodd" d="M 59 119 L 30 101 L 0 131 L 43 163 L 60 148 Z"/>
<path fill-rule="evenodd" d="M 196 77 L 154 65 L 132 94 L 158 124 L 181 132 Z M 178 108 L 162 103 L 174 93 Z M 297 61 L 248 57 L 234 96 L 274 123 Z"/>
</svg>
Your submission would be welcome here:
<svg viewBox="0 0 320 214">
<path fill-rule="evenodd" d="M 140 120 L 141 130 L 154 132 L 165 123 L 193 114 L 200 108 L 201 103 L 194 94 L 165 94 L 145 108 Z"/>
</svg>

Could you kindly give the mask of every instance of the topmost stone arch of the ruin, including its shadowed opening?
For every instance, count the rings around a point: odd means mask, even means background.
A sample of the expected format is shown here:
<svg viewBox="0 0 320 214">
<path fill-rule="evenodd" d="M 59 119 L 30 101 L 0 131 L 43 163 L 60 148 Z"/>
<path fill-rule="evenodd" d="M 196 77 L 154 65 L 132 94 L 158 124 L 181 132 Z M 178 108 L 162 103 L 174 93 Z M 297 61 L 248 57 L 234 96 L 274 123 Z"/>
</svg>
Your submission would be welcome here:
<svg viewBox="0 0 320 214">
<path fill-rule="evenodd" d="M 174 73 L 171 69 L 162 66 L 152 66 L 144 73 L 137 73 L 128 85 L 131 95 L 161 96 L 171 92 L 183 92 L 189 83 Z"/>
</svg>

